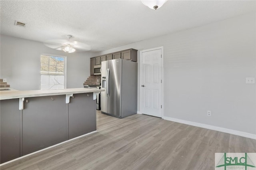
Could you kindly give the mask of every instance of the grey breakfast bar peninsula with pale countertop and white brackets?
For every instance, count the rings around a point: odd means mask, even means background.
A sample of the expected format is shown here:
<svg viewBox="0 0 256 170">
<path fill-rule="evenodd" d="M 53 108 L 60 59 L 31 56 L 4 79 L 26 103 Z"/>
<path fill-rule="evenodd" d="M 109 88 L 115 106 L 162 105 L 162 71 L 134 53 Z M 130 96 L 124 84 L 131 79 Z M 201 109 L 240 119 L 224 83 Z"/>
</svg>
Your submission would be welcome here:
<svg viewBox="0 0 256 170">
<path fill-rule="evenodd" d="M 0 163 L 95 131 L 100 91 L 0 91 Z"/>
</svg>

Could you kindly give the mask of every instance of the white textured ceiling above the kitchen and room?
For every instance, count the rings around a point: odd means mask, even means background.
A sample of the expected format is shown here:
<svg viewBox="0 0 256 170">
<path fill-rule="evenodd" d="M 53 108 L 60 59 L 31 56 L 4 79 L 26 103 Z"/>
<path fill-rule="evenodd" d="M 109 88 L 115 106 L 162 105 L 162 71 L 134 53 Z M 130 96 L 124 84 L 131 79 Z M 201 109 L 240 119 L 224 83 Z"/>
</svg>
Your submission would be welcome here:
<svg viewBox="0 0 256 170">
<path fill-rule="evenodd" d="M 3 35 L 45 42 L 71 34 L 104 51 L 256 12 L 256 1 L 168 0 L 151 10 L 140 0 L 1 0 L 0 7 Z"/>
</svg>

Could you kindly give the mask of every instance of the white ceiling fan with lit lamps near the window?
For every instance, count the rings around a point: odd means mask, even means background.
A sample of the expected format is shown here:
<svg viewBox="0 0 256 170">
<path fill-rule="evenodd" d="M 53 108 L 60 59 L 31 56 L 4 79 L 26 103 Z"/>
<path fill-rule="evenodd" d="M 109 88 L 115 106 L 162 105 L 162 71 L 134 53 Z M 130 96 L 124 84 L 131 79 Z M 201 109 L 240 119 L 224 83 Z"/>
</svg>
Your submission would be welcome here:
<svg viewBox="0 0 256 170">
<path fill-rule="evenodd" d="M 47 40 L 44 42 L 44 45 L 47 47 L 57 49 L 57 50 L 63 50 L 68 53 L 73 53 L 74 51 L 90 51 L 91 47 L 90 45 L 87 45 L 82 42 L 77 42 L 70 40 L 73 38 L 72 35 L 67 35 L 68 40 L 62 40 L 62 39 L 55 39 L 55 40 Z"/>
</svg>

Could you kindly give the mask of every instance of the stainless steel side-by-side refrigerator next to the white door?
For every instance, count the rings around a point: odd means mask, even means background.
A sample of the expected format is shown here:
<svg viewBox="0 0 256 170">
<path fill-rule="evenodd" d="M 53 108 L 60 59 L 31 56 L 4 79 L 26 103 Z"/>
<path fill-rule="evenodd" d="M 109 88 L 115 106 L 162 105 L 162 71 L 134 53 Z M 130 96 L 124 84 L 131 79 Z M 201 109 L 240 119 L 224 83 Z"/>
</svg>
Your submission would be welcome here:
<svg viewBox="0 0 256 170">
<path fill-rule="evenodd" d="M 101 111 L 118 118 L 137 113 L 137 62 L 124 59 L 102 61 Z"/>
</svg>

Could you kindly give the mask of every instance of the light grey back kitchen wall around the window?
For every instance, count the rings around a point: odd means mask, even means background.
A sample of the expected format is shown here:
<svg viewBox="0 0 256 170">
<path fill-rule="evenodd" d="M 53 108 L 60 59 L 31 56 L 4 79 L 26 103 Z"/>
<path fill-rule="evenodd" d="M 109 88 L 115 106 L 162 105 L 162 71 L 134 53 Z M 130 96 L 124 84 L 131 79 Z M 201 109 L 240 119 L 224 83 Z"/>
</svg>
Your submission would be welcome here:
<svg viewBox="0 0 256 170">
<path fill-rule="evenodd" d="M 40 53 L 66 57 L 66 87 L 83 87 L 90 75 L 91 52 L 65 53 L 43 43 L 1 35 L 0 77 L 17 90 L 40 89 Z"/>
</svg>

